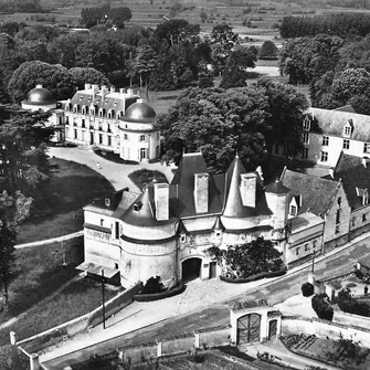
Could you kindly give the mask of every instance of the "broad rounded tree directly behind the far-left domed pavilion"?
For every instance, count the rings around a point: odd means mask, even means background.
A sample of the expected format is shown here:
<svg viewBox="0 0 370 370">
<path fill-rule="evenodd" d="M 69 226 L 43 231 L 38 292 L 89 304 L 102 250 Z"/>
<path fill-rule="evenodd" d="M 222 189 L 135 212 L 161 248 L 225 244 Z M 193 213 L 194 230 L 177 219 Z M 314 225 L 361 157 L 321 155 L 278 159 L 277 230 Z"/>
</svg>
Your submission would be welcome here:
<svg viewBox="0 0 370 370">
<path fill-rule="evenodd" d="M 40 61 L 21 64 L 13 72 L 8 91 L 12 101 L 20 103 L 38 84 L 50 89 L 57 101 L 67 99 L 74 93 L 72 76 L 64 66 Z"/>
</svg>

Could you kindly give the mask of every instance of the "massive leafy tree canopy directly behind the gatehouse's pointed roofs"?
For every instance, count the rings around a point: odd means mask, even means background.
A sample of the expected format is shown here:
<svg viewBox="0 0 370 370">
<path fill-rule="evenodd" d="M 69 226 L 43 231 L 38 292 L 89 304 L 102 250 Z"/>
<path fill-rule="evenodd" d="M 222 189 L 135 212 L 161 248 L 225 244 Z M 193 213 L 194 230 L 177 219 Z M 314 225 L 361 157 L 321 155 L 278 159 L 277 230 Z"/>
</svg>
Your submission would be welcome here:
<svg viewBox="0 0 370 370">
<path fill-rule="evenodd" d="M 275 141 L 288 155 L 300 150 L 306 98 L 292 87 L 268 80 L 240 88 L 188 88 L 157 117 L 165 137 L 162 160 L 178 163 L 182 152 L 202 150 L 209 168 L 224 171 L 237 151 L 254 169 Z"/>
</svg>

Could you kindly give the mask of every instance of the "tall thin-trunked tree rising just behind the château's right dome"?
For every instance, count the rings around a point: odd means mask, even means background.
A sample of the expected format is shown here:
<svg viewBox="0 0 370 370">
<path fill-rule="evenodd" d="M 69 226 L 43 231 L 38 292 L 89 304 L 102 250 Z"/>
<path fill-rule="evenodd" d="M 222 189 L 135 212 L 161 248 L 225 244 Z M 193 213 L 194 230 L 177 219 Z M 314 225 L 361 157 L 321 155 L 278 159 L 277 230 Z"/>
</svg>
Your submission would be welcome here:
<svg viewBox="0 0 370 370">
<path fill-rule="evenodd" d="M 140 87 L 141 81 L 145 83 L 145 94 L 147 101 L 149 101 L 149 84 L 150 76 L 152 71 L 156 68 L 157 53 L 149 45 L 139 46 L 137 50 L 137 55 L 128 60 L 126 63 L 127 68 L 129 70 L 133 76 L 139 75 L 140 77 Z"/>
</svg>

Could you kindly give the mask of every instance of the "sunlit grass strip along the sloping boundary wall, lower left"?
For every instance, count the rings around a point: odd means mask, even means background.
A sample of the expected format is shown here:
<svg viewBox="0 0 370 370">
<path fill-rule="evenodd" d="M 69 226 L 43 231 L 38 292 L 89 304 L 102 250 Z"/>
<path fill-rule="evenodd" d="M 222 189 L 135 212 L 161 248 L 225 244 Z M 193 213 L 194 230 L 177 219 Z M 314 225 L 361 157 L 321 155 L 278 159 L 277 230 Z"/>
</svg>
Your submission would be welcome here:
<svg viewBox="0 0 370 370">
<path fill-rule="evenodd" d="M 105 299 L 114 297 L 121 288 L 106 286 Z M 13 325 L 0 331 L 0 346 L 9 342 L 9 331 L 15 331 L 22 340 L 76 317 L 88 314 L 102 305 L 102 287 L 83 277 L 73 281 L 51 299 L 35 305 Z"/>
</svg>

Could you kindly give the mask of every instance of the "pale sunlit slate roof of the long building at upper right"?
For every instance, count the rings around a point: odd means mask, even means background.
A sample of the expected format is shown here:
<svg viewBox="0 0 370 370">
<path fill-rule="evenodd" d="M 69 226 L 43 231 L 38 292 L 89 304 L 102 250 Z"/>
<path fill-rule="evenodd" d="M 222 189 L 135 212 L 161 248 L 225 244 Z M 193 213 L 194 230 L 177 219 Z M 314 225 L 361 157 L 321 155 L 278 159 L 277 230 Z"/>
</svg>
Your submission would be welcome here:
<svg viewBox="0 0 370 370">
<path fill-rule="evenodd" d="M 339 109 L 328 110 L 313 107 L 308 108 L 307 113 L 314 117 L 313 131 L 342 137 L 343 126 L 351 119 L 352 135 L 350 138 L 352 140 L 370 141 L 370 116 Z"/>
</svg>

